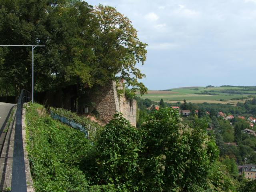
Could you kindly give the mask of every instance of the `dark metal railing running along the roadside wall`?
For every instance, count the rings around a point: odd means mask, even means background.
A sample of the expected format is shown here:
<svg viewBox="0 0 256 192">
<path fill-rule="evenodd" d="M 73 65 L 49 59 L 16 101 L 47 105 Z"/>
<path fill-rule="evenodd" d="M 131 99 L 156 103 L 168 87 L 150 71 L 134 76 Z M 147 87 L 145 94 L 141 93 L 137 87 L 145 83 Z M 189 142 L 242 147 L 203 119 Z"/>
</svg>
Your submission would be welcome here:
<svg viewBox="0 0 256 192">
<path fill-rule="evenodd" d="M 25 160 L 22 139 L 22 108 L 24 102 L 30 101 L 30 92 L 22 90 L 17 103 L 14 149 L 12 162 L 12 192 L 27 192 Z"/>
</svg>

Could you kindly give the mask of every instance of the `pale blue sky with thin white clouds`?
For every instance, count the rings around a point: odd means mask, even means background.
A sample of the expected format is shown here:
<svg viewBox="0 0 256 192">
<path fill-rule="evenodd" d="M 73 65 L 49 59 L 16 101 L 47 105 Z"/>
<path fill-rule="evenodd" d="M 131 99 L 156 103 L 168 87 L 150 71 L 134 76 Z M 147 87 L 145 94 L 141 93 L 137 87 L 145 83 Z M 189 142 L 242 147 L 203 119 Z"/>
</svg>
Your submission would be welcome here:
<svg viewBox="0 0 256 192">
<path fill-rule="evenodd" d="M 256 0 L 88 0 L 115 7 L 147 43 L 149 90 L 256 86 Z"/>
</svg>

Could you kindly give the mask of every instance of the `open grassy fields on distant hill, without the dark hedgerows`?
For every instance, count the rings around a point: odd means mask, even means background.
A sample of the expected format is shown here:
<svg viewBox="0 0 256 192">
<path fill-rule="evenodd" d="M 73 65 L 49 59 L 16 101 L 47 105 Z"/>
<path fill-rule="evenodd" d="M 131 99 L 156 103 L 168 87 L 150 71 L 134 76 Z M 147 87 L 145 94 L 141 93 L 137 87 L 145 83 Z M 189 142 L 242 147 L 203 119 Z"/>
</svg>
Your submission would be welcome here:
<svg viewBox="0 0 256 192">
<path fill-rule="evenodd" d="M 193 90 L 195 88 L 198 88 L 199 90 Z M 149 98 L 153 101 L 159 102 L 161 98 L 164 99 L 165 102 L 177 102 L 177 101 L 182 101 L 184 99 L 194 102 L 194 103 L 202 103 L 202 102 L 211 102 L 211 103 L 230 103 L 234 104 L 239 102 L 243 102 L 242 100 L 236 100 L 232 101 L 232 98 L 238 98 L 242 96 L 248 96 L 248 94 L 228 94 L 228 93 L 222 93 L 218 92 L 217 94 L 219 95 L 207 95 L 207 94 L 195 94 L 195 93 L 200 93 L 204 91 L 221 91 L 221 90 L 229 90 L 229 89 L 235 89 L 235 90 L 240 90 L 243 88 L 240 87 L 211 87 L 211 88 L 205 88 L 205 87 L 184 87 L 184 88 L 174 88 L 174 89 L 169 89 L 171 91 L 153 91 L 150 90 L 148 94 L 142 96 L 142 98 Z M 255 91 L 246 91 L 246 92 L 251 92 L 255 93 Z M 138 95 L 139 96 L 139 95 Z M 220 99 L 225 100 L 220 101 Z"/>
</svg>

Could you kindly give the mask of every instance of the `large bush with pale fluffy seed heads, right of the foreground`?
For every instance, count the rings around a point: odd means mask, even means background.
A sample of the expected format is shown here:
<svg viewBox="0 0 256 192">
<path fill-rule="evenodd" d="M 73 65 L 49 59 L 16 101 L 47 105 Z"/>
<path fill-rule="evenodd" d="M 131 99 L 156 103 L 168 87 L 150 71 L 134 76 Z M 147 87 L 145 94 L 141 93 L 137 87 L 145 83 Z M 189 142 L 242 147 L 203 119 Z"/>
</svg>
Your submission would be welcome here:
<svg viewBox="0 0 256 192">
<path fill-rule="evenodd" d="M 142 191 L 197 191 L 209 187 L 206 175 L 218 158 L 218 149 L 199 126 L 191 129 L 180 124 L 178 112 L 171 109 L 150 114 L 141 127 Z"/>
</svg>

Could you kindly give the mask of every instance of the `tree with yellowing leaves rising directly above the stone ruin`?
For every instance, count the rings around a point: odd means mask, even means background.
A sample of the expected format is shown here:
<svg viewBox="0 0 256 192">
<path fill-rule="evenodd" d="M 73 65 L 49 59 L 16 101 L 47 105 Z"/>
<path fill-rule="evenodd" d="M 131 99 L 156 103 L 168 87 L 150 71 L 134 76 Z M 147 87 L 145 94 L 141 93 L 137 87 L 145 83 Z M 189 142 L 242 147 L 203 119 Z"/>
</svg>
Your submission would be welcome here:
<svg viewBox="0 0 256 192">
<path fill-rule="evenodd" d="M 132 86 L 133 92 L 140 90 L 144 94 L 147 89 L 138 79 L 145 75 L 136 68 L 136 64 L 144 64 L 147 44 L 138 39 L 132 22 L 115 8 L 99 5 L 95 7 L 94 14 L 98 22 L 94 50 L 96 77 L 104 77 L 98 78 L 100 83 L 114 78 L 124 79 L 128 86 Z"/>
</svg>

